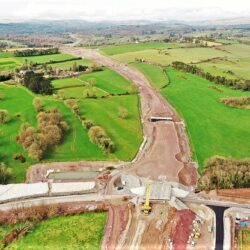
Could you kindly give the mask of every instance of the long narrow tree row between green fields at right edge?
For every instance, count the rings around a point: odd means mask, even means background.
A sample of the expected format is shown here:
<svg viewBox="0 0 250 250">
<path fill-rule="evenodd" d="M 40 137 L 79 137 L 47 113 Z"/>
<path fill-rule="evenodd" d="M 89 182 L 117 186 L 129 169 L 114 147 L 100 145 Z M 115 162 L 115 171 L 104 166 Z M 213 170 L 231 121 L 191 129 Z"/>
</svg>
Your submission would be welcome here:
<svg viewBox="0 0 250 250">
<path fill-rule="evenodd" d="M 205 72 L 203 69 L 198 68 L 196 65 L 190 65 L 183 62 L 173 62 L 172 66 L 178 70 L 183 70 L 185 72 L 189 72 L 195 75 L 198 75 L 202 78 L 205 78 L 211 82 L 219 83 L 228 87 L 232 87 L 235 89 L 242 89 L 249 91 L 250 90 L 250 81 L 245 80 L 245 82 L 241 82 L 237 79 L 227 79 L 224 76 L 214 76 L 209 72 Z"/>
</svg>

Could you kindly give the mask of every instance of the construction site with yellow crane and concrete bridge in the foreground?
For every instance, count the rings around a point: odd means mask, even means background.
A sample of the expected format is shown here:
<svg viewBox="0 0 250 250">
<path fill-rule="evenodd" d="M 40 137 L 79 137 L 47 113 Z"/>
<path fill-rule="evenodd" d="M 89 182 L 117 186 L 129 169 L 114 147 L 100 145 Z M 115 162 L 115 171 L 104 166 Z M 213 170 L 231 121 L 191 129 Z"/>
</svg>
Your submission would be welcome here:
<svg viewBox="0 0 250 250">
<path fill-rule="evenodd" d="M 103 249 L 214 249 L 214 212 L 182 202 L 189 192 L 177 186 L 145 180 L 128 202 L 111 202 Z"/>
</svg>

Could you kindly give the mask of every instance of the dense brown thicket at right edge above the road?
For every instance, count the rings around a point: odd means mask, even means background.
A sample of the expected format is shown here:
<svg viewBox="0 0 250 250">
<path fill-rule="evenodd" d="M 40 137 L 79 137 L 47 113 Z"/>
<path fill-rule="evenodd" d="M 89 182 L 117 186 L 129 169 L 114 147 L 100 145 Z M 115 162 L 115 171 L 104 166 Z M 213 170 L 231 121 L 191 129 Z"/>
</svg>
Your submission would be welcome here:
<svg viewBox="0 0 250 250">
<path fill-rule="evenodd" d="M 205 163 L 198 190 L 250 188 L 250 159 L 215 156 Z"/>
</svg>

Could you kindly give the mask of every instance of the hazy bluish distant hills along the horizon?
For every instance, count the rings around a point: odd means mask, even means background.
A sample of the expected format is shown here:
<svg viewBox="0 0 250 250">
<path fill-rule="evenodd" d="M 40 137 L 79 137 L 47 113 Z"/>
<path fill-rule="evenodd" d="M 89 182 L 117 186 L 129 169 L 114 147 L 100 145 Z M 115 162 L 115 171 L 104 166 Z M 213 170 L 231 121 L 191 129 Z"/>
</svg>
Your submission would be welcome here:
<svg viewBox="0 0 250 250">
<path fill-rule="evenodd" d="M 51 21 L 29 21 L 29 22 L 3 22 L 0 23 L 0 35 L 8 34 L 65 34 L 65 33 L 77 33 L 77 32 L 90 32 L 98 33 L 102 30 L 117 30 L 117 29 L 131 29 L 134 27 L 136 31 L 141 30 L 185 30 L 198 28 L 203 26 L 234 26 L 243 25 L 244 27 L 249 25 L 250 17 L 239 17 L 230 19 L 219 20 L 207 20 L 207 21 L 103 21 L 103 22 L 89 22 L 83 20 L 51 20 Z M 129 27 L 129 28 L 128 28 Z"/>
</svg>

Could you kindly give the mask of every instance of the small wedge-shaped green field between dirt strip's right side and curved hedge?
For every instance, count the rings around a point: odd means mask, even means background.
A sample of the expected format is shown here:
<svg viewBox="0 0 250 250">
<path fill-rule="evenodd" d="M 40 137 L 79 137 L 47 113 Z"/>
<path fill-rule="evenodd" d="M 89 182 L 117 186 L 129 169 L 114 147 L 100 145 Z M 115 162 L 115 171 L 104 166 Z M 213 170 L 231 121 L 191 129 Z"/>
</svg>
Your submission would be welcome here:
<svg viewBox="0 0 250 250">
<path fill-rule="evenodd" d="M 160 66 L 147 63 L 133 63 L 132 66 L 140 70 L 156 88 L 161 89 L 169 83 L 169 79 Z"/>
</svg>

